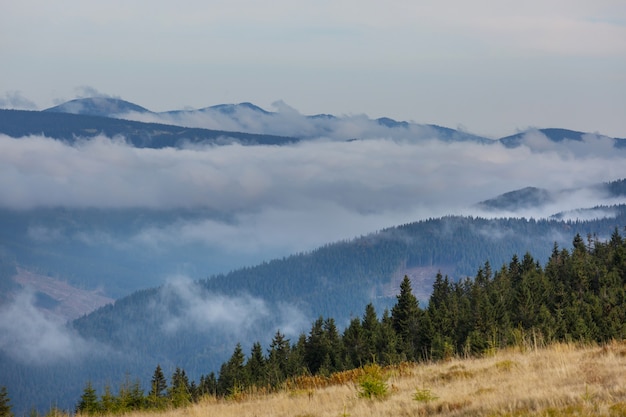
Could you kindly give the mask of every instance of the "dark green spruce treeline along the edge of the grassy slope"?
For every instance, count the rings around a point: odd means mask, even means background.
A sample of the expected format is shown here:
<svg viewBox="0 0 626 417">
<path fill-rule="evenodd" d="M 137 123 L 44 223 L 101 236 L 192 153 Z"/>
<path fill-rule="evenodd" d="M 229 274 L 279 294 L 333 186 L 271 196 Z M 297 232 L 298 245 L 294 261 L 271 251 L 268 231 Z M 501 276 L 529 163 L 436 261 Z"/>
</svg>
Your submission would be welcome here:
<svg viewBox="0 0 626 417">
<path fill-rule="evenodd" d="M 177 368 L 168 386 L 160 366 L 144 395 L 139 382 L 98 397 L 87 383 L 77 412 L 180 407 L 203 396 L 229 397 L 249 390 L 272 391 L 299 376 L 329 376 L 371 363 L 431 361 L 483 355 L 507 346 L 557 341 L 602 343 L 626 337 L 626 240 L 576 235 L 571 250 L 555 244 L 541 266 L 529 253 L 473 279 L 452 282 L 438 274 L 425 308 L 405 276 L 395 305 L 379 318 L 373 304 L 340 332 L 332 318 L 318 318 L 295 341 L 277 331 L 264 352 L 254 343 L 246 357 L 240 344 L 219 374 L 190 381 Z"/>
</svg>

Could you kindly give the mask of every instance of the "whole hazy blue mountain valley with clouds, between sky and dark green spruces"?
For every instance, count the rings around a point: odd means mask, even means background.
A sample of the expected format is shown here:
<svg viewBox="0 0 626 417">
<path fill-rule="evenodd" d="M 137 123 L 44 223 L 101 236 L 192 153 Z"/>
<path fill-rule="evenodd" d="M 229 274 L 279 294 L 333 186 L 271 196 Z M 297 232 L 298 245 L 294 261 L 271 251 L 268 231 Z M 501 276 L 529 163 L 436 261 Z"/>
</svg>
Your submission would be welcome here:
<svg viewBox="0 0 626 417">
<path fill-rule="evenodd" d="M 382 312 L 404 275 L 425 304 L 437 272 L 545 262 L 626 216 L 625 139 L 596 133 L 110 97 L 0 120 L 0 367 L 27 375 L 7 383 L 19 407 L 61 371 L 62 404 L 155 362 L 197 376 L 238 342 Z"/>
</svg>

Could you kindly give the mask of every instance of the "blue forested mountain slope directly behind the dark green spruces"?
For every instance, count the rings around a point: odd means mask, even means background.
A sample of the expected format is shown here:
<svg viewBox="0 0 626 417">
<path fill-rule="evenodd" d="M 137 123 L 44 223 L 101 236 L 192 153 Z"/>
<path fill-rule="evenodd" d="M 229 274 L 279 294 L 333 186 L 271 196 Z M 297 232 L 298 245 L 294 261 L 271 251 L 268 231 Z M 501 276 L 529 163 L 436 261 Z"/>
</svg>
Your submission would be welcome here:
<svg viewBox="0 0 626 417">
<path fill-rule="evenodd" d="M 237 342 L 248 350 L 277 329 L 295 341 L 319 315 L 343 327 L 368 302 L 381 314 L 395 302 L 405 274 L 423 305 L 437 271 L 456 280 L 473 276 L 486 261 L 498 269 L 526 252 L 545 263 L 554 243 L 571 248 L 576 233 L 608 238 L 626 224 L 626 205 L 612 210 L 615 217 L 589 221 L 448 216 L 207 279 L 173 280 L 120 298 L 69 328 L 55 328 L 68 340 L 70 357 L 48 347 L 40 360 L 59 356 L 33 366 L 13 357 L 28 352 L 0 352 L 0 374 L 14 382 L 10 391 L 26 407 L 46 407 L 52 398 L 71 407 L 86 380 L 119 381 L 129 374 L 147 386 L 157 363 L 168 371 L 180 366 L 197 379 L 217 372 Z M 37 349 L 43 348 L 30 347 Z M 63 383 L 55 385 L 59 375 Z"/>
</svg>

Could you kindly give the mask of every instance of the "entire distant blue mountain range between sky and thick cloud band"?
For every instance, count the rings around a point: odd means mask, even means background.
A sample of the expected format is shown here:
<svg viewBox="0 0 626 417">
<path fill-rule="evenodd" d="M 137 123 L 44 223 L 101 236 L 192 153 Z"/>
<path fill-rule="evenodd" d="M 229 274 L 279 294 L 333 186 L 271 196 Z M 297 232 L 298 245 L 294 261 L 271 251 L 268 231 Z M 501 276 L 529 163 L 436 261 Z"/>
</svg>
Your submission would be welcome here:
<svg viewBox="0 0 626 417">
<path fill-rule="evenodd" d="M 252 103 L 219 104 L 198 110 L 152 112 L 125 100 L 95 97 L 75 99 L 43 111 L 0 110 L 0 133 L 12 137 L 43 134 L 73 141 L 76 137 L 123 136 L 133 146 L 161 148 L 190 144 L 282 145 L 327 137 L 334 140 L 389 137 L 397 140 L 502 143 L 507 147 L 532 145 L 534 132 L 553 142 L 580 142 L 585 137 L 610 139 L 615 147 L 626 140 L 560 128 L 528 129 L 515 135 L 492 139 L 432 124 L 396 121 L 365 115 L 301 115 L 284 103 L 271 112 Z"/>
</svg>

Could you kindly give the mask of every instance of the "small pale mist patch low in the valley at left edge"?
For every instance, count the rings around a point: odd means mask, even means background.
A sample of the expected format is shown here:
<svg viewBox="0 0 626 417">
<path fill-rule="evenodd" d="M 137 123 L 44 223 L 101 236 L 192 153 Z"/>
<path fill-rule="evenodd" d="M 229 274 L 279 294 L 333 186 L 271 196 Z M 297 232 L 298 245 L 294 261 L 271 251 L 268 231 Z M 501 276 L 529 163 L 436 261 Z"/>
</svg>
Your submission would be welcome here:
<svg viewBox="0 0 626 417">
<path fill-rule="evenodd" d="M 0 350 L 16 361 L 36 365 L 80 360 L 93 351 L 61 319 L 38 310 L 28 289 L 0 306 Z"/>
</svg>

